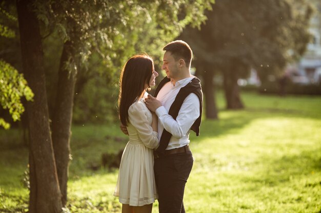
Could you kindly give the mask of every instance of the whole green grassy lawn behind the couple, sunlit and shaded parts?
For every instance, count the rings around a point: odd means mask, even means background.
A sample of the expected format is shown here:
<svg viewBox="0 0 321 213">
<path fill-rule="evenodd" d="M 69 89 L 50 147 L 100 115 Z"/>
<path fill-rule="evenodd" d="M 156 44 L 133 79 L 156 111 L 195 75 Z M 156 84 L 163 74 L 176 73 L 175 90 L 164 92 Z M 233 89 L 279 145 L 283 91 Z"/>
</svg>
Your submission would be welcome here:
<svg viewBox="0 0 321 213">
<path fill-rule="evenodd" d="M 321 97 L 243 93 L 246 109 L 223 110 L 191 135 L 194 166 L 187 212 L 321 212 Z M 112 196 L 117 169 L 99 165 L 103 153 L 126 145 L 118 124 L 74 126 L 68 197 L 70 212 L 120 212 Z M 0 131 L 0 212 L 25 212 L 28 151 L 21 132 Z M 153 213 L 158 212 L 157 202 Z"/>
</svg>

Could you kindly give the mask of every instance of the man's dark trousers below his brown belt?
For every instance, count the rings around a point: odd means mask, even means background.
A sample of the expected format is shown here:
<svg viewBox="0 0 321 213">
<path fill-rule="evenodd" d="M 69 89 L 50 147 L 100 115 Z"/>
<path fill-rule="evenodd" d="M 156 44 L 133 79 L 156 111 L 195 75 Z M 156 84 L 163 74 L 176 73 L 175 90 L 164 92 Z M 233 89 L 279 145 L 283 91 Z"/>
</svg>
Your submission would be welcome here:
<svg viewBox="0 0 321 213">
<path fill-rule="evenodd" d="M 191 152 L 155 159 L 154 173 L 158 192 L 159 213 L 185 213 L 185 184 L 193 167 Z"/>
</svg>

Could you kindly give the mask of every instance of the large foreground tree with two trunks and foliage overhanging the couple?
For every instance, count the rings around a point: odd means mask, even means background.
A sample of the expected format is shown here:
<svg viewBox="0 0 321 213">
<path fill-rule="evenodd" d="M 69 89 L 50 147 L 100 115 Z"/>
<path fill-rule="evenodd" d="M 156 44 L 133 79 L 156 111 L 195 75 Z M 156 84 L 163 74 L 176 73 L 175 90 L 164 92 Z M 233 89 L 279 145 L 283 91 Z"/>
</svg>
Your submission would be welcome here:
<svg viewBox="0 0 321 213">
<path fill-rule="evenodd" d="M 35 93 L 34 102 L 27 105 L 30 122 L 30 212 L 57 212 L 66 205 L 74 85 L 77 72 L 87 69 L 91 53 L 99 53 L 109 68 L 115 65 L 115 61 L 123 64 L 129 53 L 135 52 L 137 46 L 134 41 L 143 37 L 140 34 L 147 35 L 145 44 L 152 43 L 157 36 L 167 42 L 189 22 L 197 25 L 203 21 L 203 12 L 210 1 L 199 1 L 195 5 L 183 0 L 153 3 L 17 0 L 23 69 Z M 183 15 L 178 17 L 178 14 Z M 146 22 L 139 17 L 144 17 Z M 153 33 L 148 36 L 145 30 Z M 52 32 L 62 35 L 64 48 L 50 129 L 42 39 Z M 120 52 L 120 55 L 115 52 Z M 43 175 L 44 180 L 39 175 Z M 43 195 L 44 192 L 47 194 Z"/>
</svg>

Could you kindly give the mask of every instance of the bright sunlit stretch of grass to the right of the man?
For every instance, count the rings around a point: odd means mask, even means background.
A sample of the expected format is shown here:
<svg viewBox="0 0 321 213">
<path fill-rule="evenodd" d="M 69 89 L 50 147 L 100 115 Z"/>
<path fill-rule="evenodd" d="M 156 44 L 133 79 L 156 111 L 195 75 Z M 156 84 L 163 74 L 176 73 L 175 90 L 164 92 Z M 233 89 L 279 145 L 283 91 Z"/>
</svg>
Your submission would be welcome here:
<svg viewBox="0 0 321 213">
<path fill-rule="evenodd" d="M 212 135 L 191 143 L 195 164 L 185 202 L 190 211 L 318 212 L 321 121 L 252 113 L 234 130 L 234 122 L 224 120 L 247 112 L 227 113 L 221 121 L 204 122 L 203 131 Z M 215 136 L 222 123 L 231 129 Z"/>
</svg>

